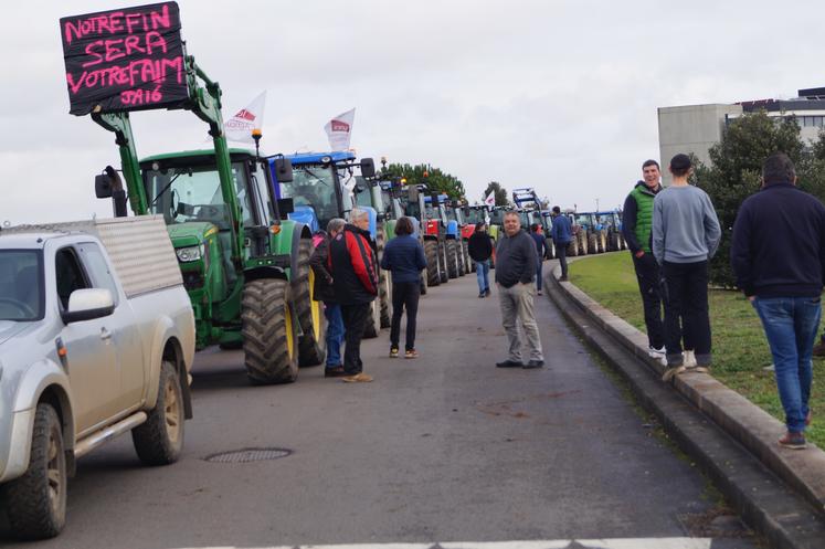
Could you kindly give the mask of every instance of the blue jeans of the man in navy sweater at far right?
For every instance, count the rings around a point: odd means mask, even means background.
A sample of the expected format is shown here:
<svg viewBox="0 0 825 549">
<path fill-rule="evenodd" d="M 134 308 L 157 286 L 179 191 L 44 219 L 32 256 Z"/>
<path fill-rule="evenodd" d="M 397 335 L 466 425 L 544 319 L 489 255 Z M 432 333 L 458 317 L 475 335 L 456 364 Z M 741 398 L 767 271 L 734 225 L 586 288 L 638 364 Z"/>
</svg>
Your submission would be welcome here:
<svg viewBox="0 0 825 549">
<path fill-rule="evenodd" d="M 785 424 L 805 431 L 813 365 L 812 349 L 822 316 L 819 297 L 757 297 L 753 306 L 771 347 Z"/>
</svg>

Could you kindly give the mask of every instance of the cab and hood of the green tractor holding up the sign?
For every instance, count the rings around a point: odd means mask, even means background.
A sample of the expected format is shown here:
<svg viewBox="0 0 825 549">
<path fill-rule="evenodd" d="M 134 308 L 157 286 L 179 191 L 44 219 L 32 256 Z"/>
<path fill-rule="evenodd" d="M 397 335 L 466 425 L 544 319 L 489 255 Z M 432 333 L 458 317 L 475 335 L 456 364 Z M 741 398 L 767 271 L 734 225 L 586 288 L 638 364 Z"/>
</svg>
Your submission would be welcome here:
<svg viewBox="0 0 825 549">
<path fill-rule="evenodd" d="M 269 255 L 271 228 L 281 224 L 265 161 L 245 149 L 229 152 L 231 189 L 221 186 L 213 149 L 157 155 L 139 163 L 148 212 L 163 217 L 187 289 L 205 289 L 214 302 L 229 296 L 251 260 Z M 235 231 L 248 245 L 233 258 Z"/>
</svg>

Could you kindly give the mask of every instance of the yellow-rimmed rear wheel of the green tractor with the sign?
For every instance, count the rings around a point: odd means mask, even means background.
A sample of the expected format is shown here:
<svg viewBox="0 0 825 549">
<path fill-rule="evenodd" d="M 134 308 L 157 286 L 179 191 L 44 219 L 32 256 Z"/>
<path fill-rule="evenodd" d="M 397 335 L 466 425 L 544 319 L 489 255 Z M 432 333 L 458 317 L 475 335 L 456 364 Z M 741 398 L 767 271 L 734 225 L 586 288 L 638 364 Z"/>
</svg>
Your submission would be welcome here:
<svg viewBox="0 0 825 549">
<path fill-rule="evenodd" d="M 295 312 L 300 331 L 298 339 L 298 366 L 318 366 L 327 357 L 327 337 L 324 305 L 313 299 L 315 273 L 309 266 L 313 241 L 300 239 L 298 244 L 298 272 L 290 281 L 295 296 Z"/>
</svg>

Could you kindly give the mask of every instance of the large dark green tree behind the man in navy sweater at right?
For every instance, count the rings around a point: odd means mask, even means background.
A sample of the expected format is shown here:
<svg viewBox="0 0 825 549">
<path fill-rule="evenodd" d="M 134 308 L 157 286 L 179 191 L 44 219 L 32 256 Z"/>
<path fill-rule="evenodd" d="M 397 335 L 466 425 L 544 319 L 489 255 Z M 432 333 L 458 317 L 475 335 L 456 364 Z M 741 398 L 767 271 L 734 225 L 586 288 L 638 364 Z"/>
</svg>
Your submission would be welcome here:
<svg viewBox="0 0 825 549">
<path fill-rule="evenodd" d="M 710 196 L 722 229 L 719 251 L 710 262 L 711 284 L 728 288 L 736 285 L 730 266 L 730 241 L 739 204 L 759 190 L 762 163 L 778 151 L 791 157 L 798 167 L 801 180 L 811 184 L 816 182 L 814 172 L 819 169 L 819 161 L 805 151 L 796 119 L 770 118 L 764 112 L 736 118 L 726 129 L 721 141 L 710 148 L 712 165 L 697 166 L 697 184 Z M 806 184 L 801 187 L 810 190 Z"/>
</svg>

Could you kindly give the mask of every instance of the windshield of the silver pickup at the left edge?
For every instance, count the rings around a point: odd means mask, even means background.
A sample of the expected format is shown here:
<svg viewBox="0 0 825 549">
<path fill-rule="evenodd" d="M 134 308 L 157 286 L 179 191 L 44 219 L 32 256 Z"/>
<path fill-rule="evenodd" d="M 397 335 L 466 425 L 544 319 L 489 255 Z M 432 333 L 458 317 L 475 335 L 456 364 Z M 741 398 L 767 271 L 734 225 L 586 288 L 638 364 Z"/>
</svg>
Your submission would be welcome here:
<svg viewBox="0 0 825 549">
<path fill-rule="evenodd" d="M 44 309 L 40 251 L 0 250 L 0 320 L 40 320 Z"/>
</svg>

